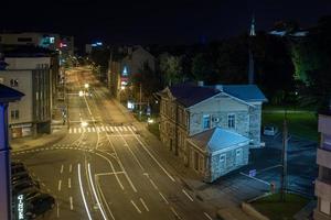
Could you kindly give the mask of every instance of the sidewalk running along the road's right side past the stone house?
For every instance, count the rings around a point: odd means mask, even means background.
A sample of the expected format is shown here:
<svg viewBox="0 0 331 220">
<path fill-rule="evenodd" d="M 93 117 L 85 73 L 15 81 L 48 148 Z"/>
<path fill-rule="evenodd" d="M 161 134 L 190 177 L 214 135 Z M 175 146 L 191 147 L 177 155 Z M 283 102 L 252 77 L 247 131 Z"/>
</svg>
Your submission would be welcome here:
<svg viewBox="0 0 331 220">
<path fill-rule="evenodd" d="M 116 106 L 122 111 L 127 112 L 117 100 L 114 100 Z M 132 121 L 138 129 L 138 133 L 152 147 L 153 153 L 161 158 L 161 161 L 169 164 L 173 172 L 180 177 L 179 180 L 183 187 L 192 191 L 194 197 L 202 201 L 203 207 L 213 216 L 218 216 L 224 220 L 253 220 L 253 218 L 245 215 L 241 209 L 241 200 L 231 198 L 229 195 L 223 193 L 217 188 L 217 184 L 205 184 L 201 180 L 194 170 L 184 166 L 183 162 L 171 154 L 167 147 L 153 134 L 147 130 L 146 122 L 138 122 L 134 116 Z"/>
</svg>

